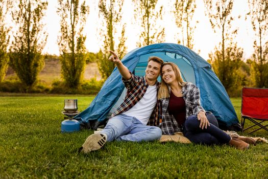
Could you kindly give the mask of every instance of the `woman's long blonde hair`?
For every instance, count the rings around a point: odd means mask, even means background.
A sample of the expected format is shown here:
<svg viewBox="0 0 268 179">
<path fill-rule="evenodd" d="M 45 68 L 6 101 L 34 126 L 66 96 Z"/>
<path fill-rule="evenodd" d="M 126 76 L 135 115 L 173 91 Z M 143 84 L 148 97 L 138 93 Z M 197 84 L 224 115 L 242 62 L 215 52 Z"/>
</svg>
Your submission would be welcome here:
<svg viewBox="0 0 268 179">
<path fill-rule="evenodd" d="M 162 78 L 162 69 L 163 69 L 163 66 L 165 66 L 165 65 L 170 65 L 172 67 L 172 69 L 173 69 L 173 71 L 175 73 L 176 80 L 178 81 L 179 86 L 184 86 L 186 84 L 186 82 L 183 81 L 183 79 L 182 79 L 181 71 L 180 71 L 179 67 L 173 62 L 164 62 L 161 65 L 161 69 L 160 69 L 161 85 L 160 85 L 158 95 L 157 95 L 158 99 L 169 98 L 168 85 L 164 82 L 164 80 Z"/>
</svg>

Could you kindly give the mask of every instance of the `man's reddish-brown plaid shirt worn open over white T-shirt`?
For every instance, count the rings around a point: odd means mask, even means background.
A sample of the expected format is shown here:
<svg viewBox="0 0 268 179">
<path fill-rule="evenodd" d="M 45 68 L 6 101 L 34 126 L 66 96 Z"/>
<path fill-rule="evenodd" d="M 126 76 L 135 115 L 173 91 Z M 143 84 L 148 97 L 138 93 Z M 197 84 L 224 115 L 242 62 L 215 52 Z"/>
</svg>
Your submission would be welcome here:
<svg viewBox="0 0 268 179">
<path fill-rule="evenodd" d="M 129 80 L 126 80 L 122 77 L 122 81 L 128 90 L 127 95 L 124 99 L 124 102 L 113 112 L 110 118 L 118 114 L 124 113 L 125 111 L 133 107 L 135 104 L 137 104 L 137 102 L 143 97 L 149 86 L 149 84 L 145 80 L 145 77 L 138 77 L 133 75 L 132 73 L 131 78 Z M 158 92 L 160 86 L 158 81 L 156 81 L 156 86 Z M 157 100 L 156 106 L 153 110 L 153 113 L 147 125 L 159 126 L 159 123 L 161 122 L 160 117 L 161 117 L 161 104 L 160 100 Z"/>
</svg>

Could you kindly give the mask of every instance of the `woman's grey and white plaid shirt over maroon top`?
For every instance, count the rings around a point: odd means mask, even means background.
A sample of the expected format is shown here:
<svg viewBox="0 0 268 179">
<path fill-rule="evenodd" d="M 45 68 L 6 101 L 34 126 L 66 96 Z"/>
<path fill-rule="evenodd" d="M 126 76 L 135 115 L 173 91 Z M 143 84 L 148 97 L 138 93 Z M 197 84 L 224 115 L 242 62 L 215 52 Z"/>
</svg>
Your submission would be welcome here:
<svg viewBox="0 0 268 179">
<path fill-rule="evenodd" d="M 168 86 L 168 88 L 170 94 L 170 86 Z M 196 85 L 187 82 L 182 86 L 181 92 L 182 97 L 185 101 L 186 119 L 191 115 L 197 115 L 201 110 L 205 111 L 201 106 L 200 92 L 199 88 Z M 174 135 L 174 132 L 181 132 L 182 129 L 181 126 L 179 126 L 177 123 L 174 116 L 168 113 L 168 102 L 169 98 L 161 99 L 163 120 L 159 127 L 161 128 L 163 135 Z"/>
</svg>

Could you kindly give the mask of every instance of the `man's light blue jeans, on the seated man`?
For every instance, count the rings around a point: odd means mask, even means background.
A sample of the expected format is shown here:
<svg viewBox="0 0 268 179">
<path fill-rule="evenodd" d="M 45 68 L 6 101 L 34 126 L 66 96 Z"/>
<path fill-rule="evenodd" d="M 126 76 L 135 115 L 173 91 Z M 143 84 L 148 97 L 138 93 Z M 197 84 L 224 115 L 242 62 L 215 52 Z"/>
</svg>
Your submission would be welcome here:
<svg viewBox="0 0 268 179">
<path fill-rule="evenodd" d="M 144 125 L 137 118 L 124 114 L 109 119 L 101 133 L 107 135 L 107 141 L 153 141 L 162 136 L 159 127 Z"/>
</svg>

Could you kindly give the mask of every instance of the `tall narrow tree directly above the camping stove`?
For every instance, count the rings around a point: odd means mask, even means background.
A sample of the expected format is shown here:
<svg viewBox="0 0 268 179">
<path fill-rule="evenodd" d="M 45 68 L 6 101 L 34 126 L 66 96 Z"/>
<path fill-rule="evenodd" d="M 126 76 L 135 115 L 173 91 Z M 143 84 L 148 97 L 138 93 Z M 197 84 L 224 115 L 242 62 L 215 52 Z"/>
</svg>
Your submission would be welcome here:
<svg viewBox="0 0 268 179">
<path fill-rule="evenodd" d="M 61 17 L 58 37 L 61 75 L 66 86 L 77 88 L 85 71 L 86 47 L 83 31 L 89 13 L 85 1 L 58 0 L 57 13 Z"/>
</svg>

